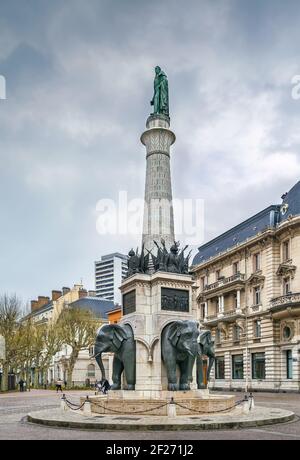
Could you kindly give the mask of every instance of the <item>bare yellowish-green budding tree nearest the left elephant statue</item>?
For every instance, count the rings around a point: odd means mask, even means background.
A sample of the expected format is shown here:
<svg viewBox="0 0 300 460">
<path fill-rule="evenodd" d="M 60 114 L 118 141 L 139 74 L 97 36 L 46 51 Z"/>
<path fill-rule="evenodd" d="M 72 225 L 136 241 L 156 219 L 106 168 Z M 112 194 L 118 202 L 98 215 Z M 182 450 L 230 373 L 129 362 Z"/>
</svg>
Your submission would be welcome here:
<svg viewBox="0 0 300 460">
<path fill-rule="evenodd" d="M 59 317 L 57 326 L 61 330 L 63 342 L 72 349 L 68 360 L 69 388 L 72 386 L 72 375 L 79 353 L 94 344 L 99 322 L 100 320 L 96 319 L 92 312 L 79 308 L 67 307 Z"/>
</svg>

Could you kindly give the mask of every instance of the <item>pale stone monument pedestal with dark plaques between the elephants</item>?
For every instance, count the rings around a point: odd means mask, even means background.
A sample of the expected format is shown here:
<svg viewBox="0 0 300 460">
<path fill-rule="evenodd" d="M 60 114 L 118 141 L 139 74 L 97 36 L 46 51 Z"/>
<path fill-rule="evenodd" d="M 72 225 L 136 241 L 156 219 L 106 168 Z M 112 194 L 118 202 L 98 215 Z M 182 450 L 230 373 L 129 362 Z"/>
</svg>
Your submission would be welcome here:
<svg viewBox="0 0 300 460">
<path fill-rule="evenodd" d="M 137 391 L 168 389 L 161 358 L 161 334 L 174 321 L 194 320 L 194 281 L 190 275 L 156 272 L 136 274 L 121 286 L 121 324 L 132 327 L 136 341 Z M 196 389 L 196 366 L 191 389 Z"/>
</svg>

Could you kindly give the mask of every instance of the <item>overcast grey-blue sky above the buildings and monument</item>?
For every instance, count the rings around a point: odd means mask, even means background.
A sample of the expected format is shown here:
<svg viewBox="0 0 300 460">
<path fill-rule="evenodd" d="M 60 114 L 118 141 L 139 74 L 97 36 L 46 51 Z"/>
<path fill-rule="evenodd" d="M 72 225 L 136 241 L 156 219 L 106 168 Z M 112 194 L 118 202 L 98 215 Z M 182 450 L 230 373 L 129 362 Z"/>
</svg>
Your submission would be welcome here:
<svg viewBox="0 0 300 460">
<path fill-rule="evenodd" d="M 153 68 L 167 73 L 176 198 L 205 241 L 300 179 L 299 0 L 0 0 L 0 291 L 24 301 L 140 244 L 96 204 L 142 198 Z M 203 241 L 199 241 L 199 244 Z"/>
</svg>

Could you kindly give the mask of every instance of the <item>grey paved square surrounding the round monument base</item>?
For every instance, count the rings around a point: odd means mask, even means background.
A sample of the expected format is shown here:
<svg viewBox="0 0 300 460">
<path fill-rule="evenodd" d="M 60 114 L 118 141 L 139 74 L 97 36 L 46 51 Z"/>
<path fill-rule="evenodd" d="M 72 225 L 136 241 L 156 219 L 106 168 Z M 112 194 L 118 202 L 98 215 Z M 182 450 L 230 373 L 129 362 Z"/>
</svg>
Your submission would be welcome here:
<svg viewBox="0 0 300 460">
<path fill-rule="evenodd" d="M 69 392 L 68 399 L 79 402 L 87 392 Z M 92 393 L 91 393 L 92 394 Z M 237 394 L 240 399 L 242 395 Z M 254 394 L 255 404 L 292 410 L 296 421 L 262 428 L 200 432 L 87 432 L 47 428 L 26 422 L 28 412 L 55 408 L 60 395 L 53 391 L 33 390 L 27 393 L 0 395 L 0 440 L 300 440 L 300 394 Z"/>
</svg>

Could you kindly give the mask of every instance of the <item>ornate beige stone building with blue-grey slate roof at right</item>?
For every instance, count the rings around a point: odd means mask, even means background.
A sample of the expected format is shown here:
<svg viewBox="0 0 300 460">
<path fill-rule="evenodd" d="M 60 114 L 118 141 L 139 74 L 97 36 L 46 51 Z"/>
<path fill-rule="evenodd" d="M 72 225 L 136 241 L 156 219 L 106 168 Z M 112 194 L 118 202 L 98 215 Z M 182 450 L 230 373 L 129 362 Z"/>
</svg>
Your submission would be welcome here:
<svg viewBox="0 0 300 460">
<path fill-rule="evenodd" d="M 300 182 L 199 248 L 198 318 L 213 331 L 211 388 L 300 390 Z"/>
</svg>

